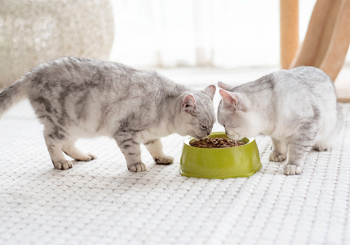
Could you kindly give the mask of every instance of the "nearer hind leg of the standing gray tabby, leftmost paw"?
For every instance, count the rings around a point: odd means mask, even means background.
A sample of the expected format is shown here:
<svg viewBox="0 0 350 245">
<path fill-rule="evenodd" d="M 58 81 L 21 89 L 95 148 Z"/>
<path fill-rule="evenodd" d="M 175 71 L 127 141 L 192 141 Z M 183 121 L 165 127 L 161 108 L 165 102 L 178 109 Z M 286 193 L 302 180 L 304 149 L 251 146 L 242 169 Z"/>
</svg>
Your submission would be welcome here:
<svg viewBox="0 0 350 245">
<path fill-rule="evenodd" d="M 73 167 L 72 162 L 66 160 L 63 156 L 62 146 L 65 143 L 65 136 L 63 134 L 57 131 L 50 132 L 44 130 L 44 139 L 55 168 L 67 169 Z"/>
</svg>

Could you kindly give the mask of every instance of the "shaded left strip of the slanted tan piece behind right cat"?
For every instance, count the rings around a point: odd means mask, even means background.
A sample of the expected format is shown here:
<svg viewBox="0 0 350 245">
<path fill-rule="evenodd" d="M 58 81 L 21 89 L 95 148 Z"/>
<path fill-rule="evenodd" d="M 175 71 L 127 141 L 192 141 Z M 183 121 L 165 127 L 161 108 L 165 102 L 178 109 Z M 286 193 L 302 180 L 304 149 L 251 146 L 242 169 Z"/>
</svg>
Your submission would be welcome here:
<svg viewBox="0 0 350 245">
<path fill-rule="evenodd" d="M 319 67 L 328 49 L 342 0 L 317 0 L 301 47 L 289 69 L 296 66 Z"/>
</svg>

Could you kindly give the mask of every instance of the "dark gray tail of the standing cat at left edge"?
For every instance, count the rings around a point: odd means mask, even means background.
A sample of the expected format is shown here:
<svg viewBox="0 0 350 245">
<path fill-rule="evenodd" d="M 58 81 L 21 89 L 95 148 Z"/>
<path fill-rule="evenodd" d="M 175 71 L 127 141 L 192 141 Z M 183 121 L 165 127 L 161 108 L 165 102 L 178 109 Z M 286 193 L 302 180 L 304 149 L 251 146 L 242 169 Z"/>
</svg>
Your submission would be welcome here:
<svg viewBox="0 0 350 245">
<path fill-rule="evenodd" d="M 5 111 L 27 98 L 27 79 L 22 77 L 0 91 L 0 118 Z"/>
</svg>

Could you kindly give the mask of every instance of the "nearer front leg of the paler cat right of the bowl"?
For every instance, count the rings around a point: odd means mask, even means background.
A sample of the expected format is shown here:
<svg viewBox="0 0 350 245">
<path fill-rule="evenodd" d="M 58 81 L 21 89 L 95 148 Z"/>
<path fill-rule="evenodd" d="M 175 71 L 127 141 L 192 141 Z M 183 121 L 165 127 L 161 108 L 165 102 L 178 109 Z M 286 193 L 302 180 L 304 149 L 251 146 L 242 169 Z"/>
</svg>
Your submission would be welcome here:
<svg viewBox="0 0 350 245">
<path fill-rule="evenodd" d="M 311 150 L 312 142 L 300 139 L 288 144 L 287 164 L 283 166 L 283 173 L 287 175 L 301 174 L 307 152 Z"/>
</svg>

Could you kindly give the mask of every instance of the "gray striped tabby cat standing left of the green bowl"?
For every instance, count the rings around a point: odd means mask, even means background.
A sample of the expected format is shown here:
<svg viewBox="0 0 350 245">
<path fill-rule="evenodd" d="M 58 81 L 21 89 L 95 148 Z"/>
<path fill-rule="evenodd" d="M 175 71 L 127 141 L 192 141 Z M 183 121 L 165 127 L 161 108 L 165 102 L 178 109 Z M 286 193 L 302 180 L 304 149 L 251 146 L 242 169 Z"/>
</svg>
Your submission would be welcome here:
<svg viewBox="0 0 350 245">
<path fill-rule="evenodd" d="M 158 164 L 173 163 L 160 138 L 173 133 L 204 138 L 215 122 L 215 86 L 202 91 L 176 84 L 154 71 L 87 58 L 62 57 L 41 64 L 0 92 L 0 116 L 28 98 L 44 124 L 55 168 L 94 158 L 75 147 L 81 137 L 116 140 L 131 171 L 144 171 L 140 144 Z M 63 152 L 62 152 L 63 151 Z"/>
</svg>

